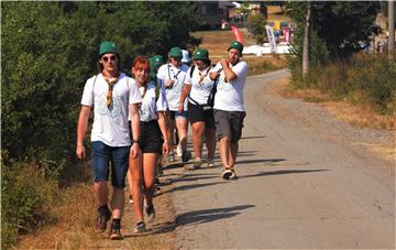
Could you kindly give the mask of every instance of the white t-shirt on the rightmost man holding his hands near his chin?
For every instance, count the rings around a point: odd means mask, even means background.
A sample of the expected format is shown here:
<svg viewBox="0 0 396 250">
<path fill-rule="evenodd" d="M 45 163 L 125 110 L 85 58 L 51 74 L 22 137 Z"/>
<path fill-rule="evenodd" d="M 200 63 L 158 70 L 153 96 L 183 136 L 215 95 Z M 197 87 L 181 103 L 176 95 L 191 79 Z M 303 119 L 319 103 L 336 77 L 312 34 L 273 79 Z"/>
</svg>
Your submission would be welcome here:
<svg viewBox="0 0 396 250">
<path fill-rule="evenodd" d="M 222 68 L 221 64 L 218 63 L 211 72 L 217 72 L 220 68 Z M 237 65 L 231 67 L 231 70 L 235 73 L 238 77 L 229 83 L 226 83 L 224 80 L 224 72 L 221 70 L 220 73 L 213 109 L 245 111 L 243 104 L 243 87 L 248 77 L 248 64 L 240 61 Z"/>
</svg>

